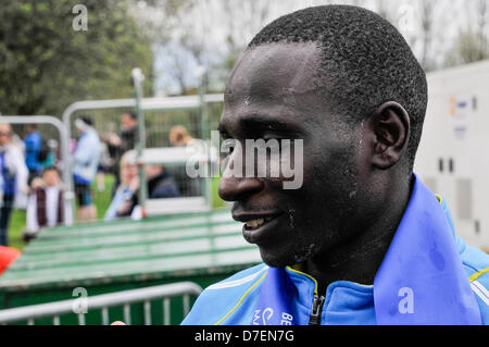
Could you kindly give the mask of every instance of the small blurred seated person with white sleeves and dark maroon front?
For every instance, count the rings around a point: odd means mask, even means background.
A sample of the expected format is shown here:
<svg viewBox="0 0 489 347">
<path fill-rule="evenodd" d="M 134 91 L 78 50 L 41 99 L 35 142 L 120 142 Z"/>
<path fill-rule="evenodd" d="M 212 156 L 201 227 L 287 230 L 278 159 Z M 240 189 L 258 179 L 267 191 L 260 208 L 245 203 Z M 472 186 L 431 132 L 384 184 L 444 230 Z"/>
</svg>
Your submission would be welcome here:
<svg viewBox="0 0 489 347">
<path fill-rule="evenodd" d="M 55 166 L 46 168 L 42 178 L 37 177 L 32 183 L 24 240 L 28 241 L 36 237 L 42 227 L 55 226 L 63 222 L 64 205 L 60 173 Z"/>
</svg>

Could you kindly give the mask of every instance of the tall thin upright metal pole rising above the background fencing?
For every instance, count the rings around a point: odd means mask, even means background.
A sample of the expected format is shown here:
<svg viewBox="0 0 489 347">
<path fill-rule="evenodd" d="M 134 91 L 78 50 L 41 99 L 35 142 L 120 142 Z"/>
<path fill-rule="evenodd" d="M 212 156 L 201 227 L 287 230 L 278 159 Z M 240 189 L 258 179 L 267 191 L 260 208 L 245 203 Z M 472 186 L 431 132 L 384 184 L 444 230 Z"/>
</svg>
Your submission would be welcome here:
<svg viewBox="0 0 489 347">
<path fill-rule="evenodd" d="M 146 132 L 145 132 L 145 113 L 141 109 L 142 99 L 142 82 L 145 75 L 139 67 L 133 70 L 133 83 L 136 90 L 136 113 L 138 115 L 138 142 L 137 142 L 137 163 L 139 174 L 139 206 L 141 207 L 141 215 L 146 215 L 146 199 L 148 197 L 148 185 L 146 183 L 145 165 L 141 162 L 142 151 L 146 148 Z"/>
</svg>

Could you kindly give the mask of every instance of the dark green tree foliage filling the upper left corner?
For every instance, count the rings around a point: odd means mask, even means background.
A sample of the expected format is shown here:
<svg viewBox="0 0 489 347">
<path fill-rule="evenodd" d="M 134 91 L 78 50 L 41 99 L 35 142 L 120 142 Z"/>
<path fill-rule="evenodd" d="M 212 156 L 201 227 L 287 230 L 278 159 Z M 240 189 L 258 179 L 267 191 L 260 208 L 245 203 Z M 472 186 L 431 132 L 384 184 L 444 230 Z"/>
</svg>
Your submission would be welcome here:
<svg viewBox="0 0 489 347">
<path fill-rule="evenodd" d="M 74 30 L 87 8 L 88 30 Z M 72 102 L 130 98 L 131 69 L 151 94 L 150 41 L 125 1 L 3 0 L 0 7 L 1 114 L 60 115 Z"/>
</svg>

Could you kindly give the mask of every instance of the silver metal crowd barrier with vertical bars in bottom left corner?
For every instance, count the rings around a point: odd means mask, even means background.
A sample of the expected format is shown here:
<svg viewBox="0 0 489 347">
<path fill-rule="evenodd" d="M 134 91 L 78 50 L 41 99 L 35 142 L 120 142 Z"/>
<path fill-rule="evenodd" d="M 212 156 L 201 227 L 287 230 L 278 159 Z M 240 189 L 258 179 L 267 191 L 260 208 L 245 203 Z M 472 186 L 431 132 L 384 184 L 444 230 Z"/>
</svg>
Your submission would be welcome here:
<svg viewBox="0 0 489 347">
<path fill-rule="evenodd" d="M 202 288 L 192 282 L 179 282 L 146 288 L 123 290 L 110 294 L 102 294 L 86 298 L 75 298 L 70 300 L 32 305 L 14 309 L 0 311 L 0 324 L 27 321 L 28 325 L 34 325 L 34 320 L 52 317 L 53 325 L 60 325 L 60 317 L 63 314 L 76 313 L 78 324 L 85 325 L 85 314 L 89 310 L 100 310 L 102 324 L 111 323 L 109 308 L 123 306 L 124 322 L 130 324 L 130 303 L 143 302 L 145 325 L 151 325 L 151 301 L 162 299 L 163 324 L 171 324 L 171 302 L 170 298 L 183 296 L 184 317 L 190 311 L 190 296 L 199 296 Z M 86 301 L 80 301 L 86 300 Z M 79 311 L 83 309 L 82 311 Z M 78 312 L 77 312 L 78 311 Z"/>
</svg>

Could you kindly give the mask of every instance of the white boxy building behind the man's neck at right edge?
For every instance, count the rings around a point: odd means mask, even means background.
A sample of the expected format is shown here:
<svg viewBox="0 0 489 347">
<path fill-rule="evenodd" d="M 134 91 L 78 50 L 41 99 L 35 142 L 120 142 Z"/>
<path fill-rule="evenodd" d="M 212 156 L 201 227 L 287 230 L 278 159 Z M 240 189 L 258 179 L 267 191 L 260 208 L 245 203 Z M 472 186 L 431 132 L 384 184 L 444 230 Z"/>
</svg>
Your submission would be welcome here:
<svg viewBox="0 0 489 347">
<path fill-rule="evenodd" d="M 489 61 L 428 74 L 415 172 L 447 199 L 455 230 L 489 250 Z"/>
</svg>

